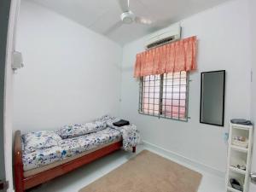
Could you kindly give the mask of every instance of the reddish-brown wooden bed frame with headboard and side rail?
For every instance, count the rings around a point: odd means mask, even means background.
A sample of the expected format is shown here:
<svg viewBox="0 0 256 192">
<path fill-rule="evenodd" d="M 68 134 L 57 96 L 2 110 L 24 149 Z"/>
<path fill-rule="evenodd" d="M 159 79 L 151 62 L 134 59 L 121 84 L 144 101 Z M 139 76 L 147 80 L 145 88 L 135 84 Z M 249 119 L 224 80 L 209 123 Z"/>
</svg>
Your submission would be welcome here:
<svg viewBox="0 0 256 192">
<path fill-rule="evenodd" d="M 55 166 L 44 172 L 39 172 L 30 177 L 23 176 L 23 162 L 22 162 L 22 149 L 21 149 L 21 134 L 20 131 L 15 131 L 15 192 L 25 192 L 26 189 L 37 186 L 38 184 L 45 183 L 55 177 L 59 177 L 67 172 L 71 172 L 80 166 L 89 164 L 93 160 L 97 160 L 113 151 L 122 148 L 122 141 L 113 143 L 107 147 L 100 148 L 90 154 L 85 154 L 78 159 L 71 160 L 61 166 Z M 136 152 L 136 147 L 132 148 L 132 152 Z"/>
</svg>

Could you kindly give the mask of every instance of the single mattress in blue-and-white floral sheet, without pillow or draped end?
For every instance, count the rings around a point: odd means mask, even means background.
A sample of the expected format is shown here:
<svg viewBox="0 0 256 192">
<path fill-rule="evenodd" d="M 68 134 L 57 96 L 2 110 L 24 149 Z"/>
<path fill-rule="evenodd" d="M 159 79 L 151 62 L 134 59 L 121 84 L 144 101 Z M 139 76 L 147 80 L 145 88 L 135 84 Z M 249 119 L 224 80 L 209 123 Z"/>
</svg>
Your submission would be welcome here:
<svg viewBox="0 0 256 192">
<path fill-rule="evenodd" d="M 38 149 L 22 154 L 24 172 L 44 167 L 75 156 L 80 157 L 86 151 L 100 148 L 108 143 L 120 141 L 121 132 L 112 128 L 86 134 L 84 136 L 62 139 L 57 146 Z M 51 167 L 52 168 L 52 167 Z M 45 171 L 45 170 L 44 170 Z M 37 172 L 38 173 L 38 172 Z M 35 174 L 35 173 L 34 173 Z M 26 174 L 31 175 L 31 174 Z"/>
</svg>

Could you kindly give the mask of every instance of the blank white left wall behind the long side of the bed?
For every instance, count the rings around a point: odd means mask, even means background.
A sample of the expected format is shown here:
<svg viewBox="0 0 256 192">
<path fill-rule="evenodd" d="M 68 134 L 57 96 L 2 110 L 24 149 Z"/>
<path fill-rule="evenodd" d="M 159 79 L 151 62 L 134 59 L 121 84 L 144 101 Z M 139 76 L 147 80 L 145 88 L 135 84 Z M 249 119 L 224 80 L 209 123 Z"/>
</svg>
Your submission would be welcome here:
<svg viewBox="0 0 256 192">
<path fill-rule="evenodd" d="M 15 130 L 55 129 L 119 113 L 122 48 L 108 38 L 22 1 L 15 75 Z"/>
</svg>

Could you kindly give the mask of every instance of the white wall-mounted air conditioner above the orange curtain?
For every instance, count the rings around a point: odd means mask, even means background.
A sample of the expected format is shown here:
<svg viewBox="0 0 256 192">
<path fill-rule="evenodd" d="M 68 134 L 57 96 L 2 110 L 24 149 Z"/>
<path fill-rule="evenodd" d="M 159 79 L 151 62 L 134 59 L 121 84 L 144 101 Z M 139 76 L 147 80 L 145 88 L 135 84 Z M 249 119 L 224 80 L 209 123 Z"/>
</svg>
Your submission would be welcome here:
<svg viewBox="0 0 256 192">
<path fill-rule="evenodd" d="M 155 32 L 148 38 L 145 49 L 152 49 L 160 45 L 169 44 L 181 38 L 181 26 L 172 26 L 171 28 Z"/>
</svg>

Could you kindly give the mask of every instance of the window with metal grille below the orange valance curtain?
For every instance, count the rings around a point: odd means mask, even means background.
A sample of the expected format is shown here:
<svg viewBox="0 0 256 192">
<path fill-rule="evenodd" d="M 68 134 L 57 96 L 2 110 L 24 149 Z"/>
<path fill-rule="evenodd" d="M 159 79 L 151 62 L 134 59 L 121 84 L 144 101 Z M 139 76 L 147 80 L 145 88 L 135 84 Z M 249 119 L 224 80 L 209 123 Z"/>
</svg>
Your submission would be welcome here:
<svg viewBox="0 0 256 192">
<path fill-rule="evenodd" d="M 189 73 L 178 72 L 141 78 L 139 113 L 186 121 L 188 77 Z"/>
</svg>

